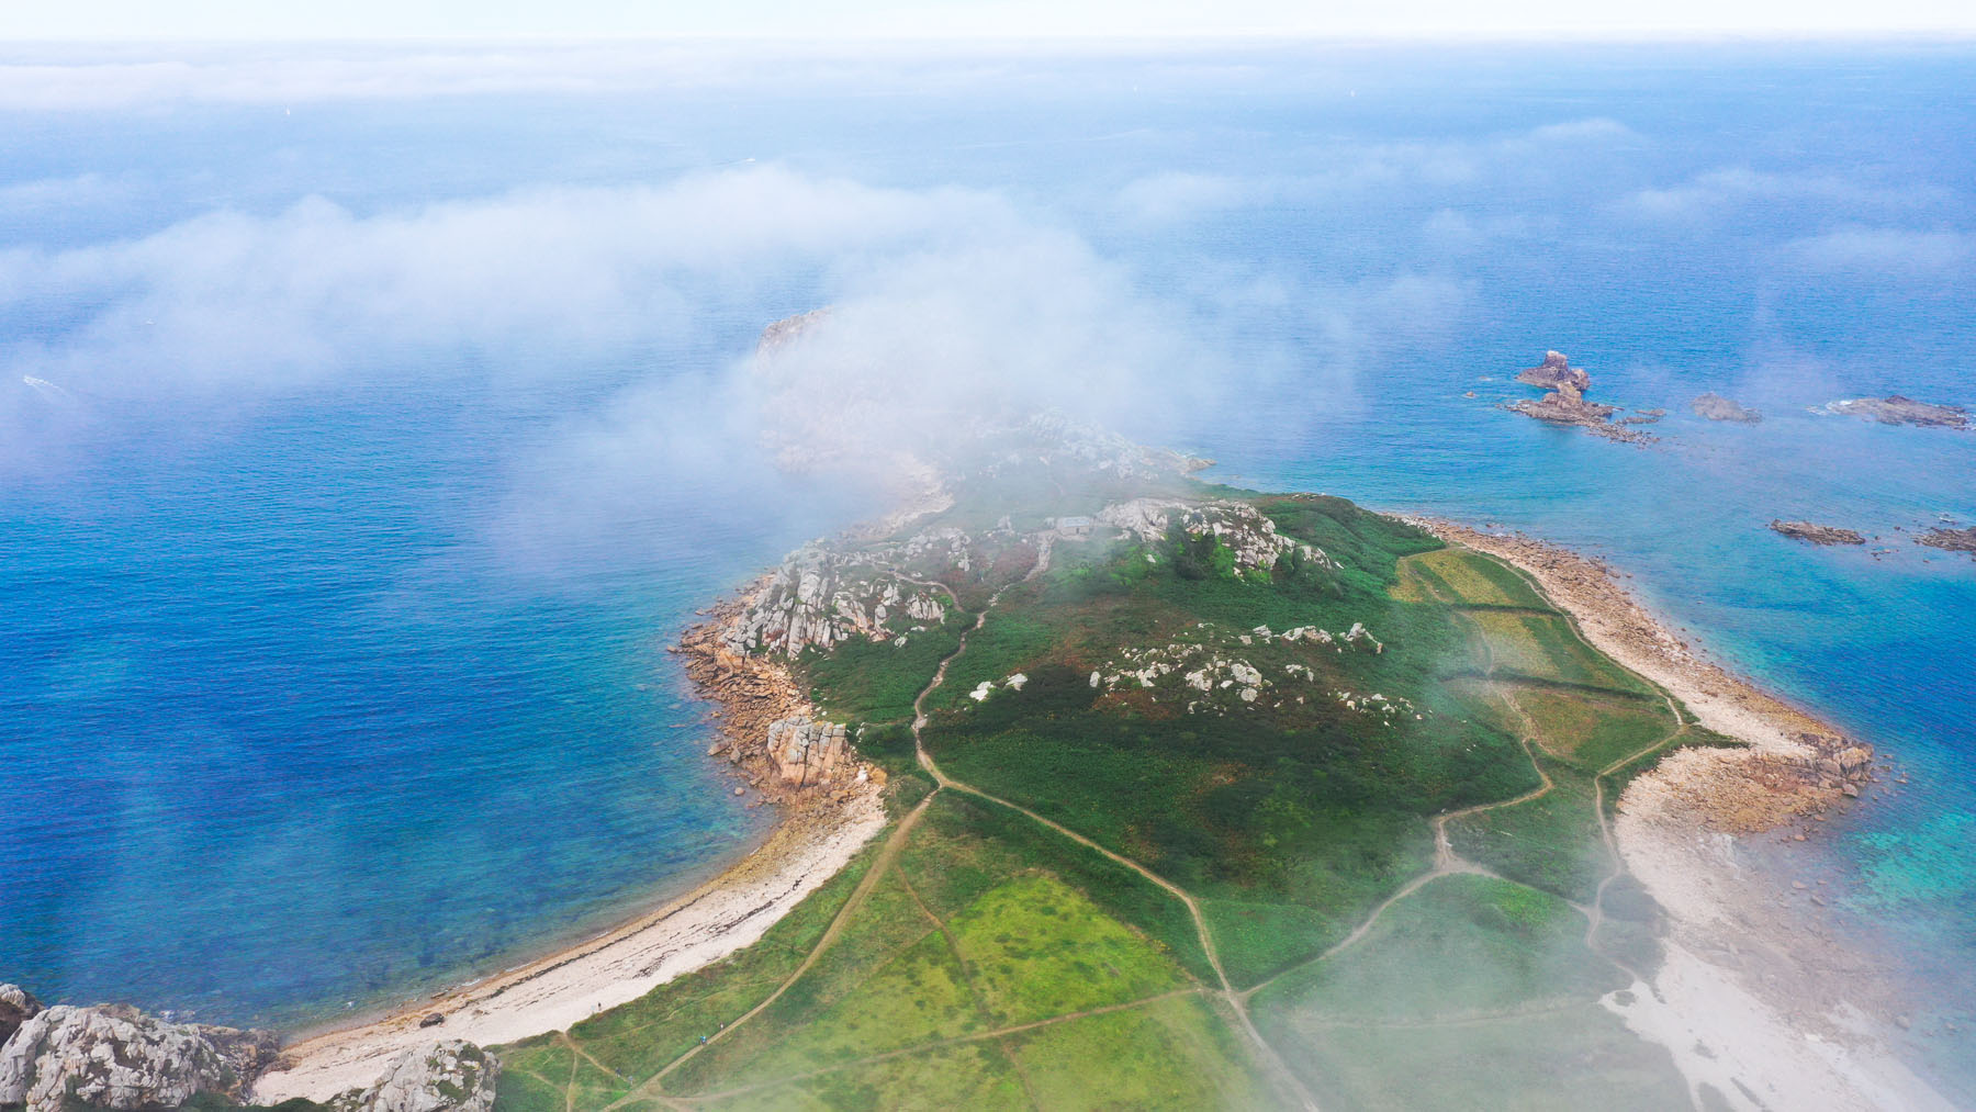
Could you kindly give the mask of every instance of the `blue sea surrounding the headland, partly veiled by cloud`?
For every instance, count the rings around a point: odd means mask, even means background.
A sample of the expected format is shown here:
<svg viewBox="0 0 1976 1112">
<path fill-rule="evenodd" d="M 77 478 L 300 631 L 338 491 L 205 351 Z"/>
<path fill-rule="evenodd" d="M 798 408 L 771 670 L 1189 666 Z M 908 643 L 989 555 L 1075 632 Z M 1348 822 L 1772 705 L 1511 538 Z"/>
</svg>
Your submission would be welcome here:
<svg viewBox="0 0 1976 1112">
<path fill-rule="evenodd" d="M 1976 433 L 1824 411 L 1976 407 L 1970 43 L 4 47 L 0 980 L 302 1027 L 747 853 L 664 648 L 885 506 L 753 421 L 820 304 L 879 401 L 1612 561 L 1883 755 L 1792 853 L 1976 1100 L 1976 561 L 1913 543 Z M 1545 350 L 1658 440 L 1500 409 Z"/>
</svg>

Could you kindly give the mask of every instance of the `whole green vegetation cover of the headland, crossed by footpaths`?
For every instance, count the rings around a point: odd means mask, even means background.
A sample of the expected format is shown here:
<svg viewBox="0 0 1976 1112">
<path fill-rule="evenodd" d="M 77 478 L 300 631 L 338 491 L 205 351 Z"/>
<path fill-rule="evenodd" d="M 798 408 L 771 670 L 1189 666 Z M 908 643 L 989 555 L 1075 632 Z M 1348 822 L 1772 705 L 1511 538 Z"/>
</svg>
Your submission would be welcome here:
<svg viewBox="0 0 1976 1112">
<path fill-rule="evenodd" d="M 798 662 L 893 830 L 757 946 L 502 1049 L 500 1112 L 1686 1098 L 1597 1003 L 1658 960 L 1597 796 L 1709 739 L 1529 581 L 1338 498 L 1047 454 L 954 490 L 968 567 L 909 571 L 962 606 Z M 1037 569 L 1024 531 L 1140 496 L 1243 498 L 1322 555 L 1176 525 Z"/>
</svg>

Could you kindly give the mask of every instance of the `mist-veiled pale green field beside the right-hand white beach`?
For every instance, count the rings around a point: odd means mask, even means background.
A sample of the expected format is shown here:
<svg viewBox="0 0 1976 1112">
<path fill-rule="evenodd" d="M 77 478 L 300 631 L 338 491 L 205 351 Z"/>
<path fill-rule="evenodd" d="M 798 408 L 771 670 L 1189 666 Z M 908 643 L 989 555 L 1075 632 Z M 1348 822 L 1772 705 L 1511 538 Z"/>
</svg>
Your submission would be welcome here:
<svg viewBox="0 0 1976 1112">
<path fill-rule="evenodd" d="M 1450 875 L 1253 1015 L 1326 1108 L 1678 1108 L 1672 1057 L 1595 1003 L 1626 984 L 1563 901 Z"/>
</svg>

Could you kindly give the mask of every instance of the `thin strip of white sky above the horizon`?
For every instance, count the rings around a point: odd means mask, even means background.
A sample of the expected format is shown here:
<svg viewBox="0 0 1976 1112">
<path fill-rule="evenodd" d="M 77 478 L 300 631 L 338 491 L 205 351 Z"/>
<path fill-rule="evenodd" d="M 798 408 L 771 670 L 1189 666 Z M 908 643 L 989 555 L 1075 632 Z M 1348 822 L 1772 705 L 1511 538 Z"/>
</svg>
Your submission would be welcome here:
<svg viewBox="0 0 1976 1112">
<path fill-rule="evenodd" d="M 0 40 L 1976 34 L 1968 0 L 65 0 Z"/>
</svg>

